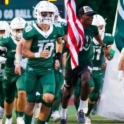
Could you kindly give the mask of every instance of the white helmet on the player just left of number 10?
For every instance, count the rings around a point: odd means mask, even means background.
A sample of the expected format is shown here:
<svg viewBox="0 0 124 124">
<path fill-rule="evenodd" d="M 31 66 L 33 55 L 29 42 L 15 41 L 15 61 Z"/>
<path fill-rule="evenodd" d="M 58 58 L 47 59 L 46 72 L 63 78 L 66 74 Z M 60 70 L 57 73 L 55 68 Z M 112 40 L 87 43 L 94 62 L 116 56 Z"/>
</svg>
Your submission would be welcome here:
<svg viewBox="0 0 124 124">
<path fill-rule="evenodd" d="M 16 17 L 10 23 L 10 30 L 12 36 L 19 41 L 22 38 L 22 32 L 16 33 L 17 29 L 24 29 L 26 21 L 23 18 Z"/>
</svg>

